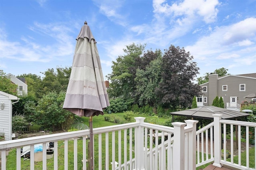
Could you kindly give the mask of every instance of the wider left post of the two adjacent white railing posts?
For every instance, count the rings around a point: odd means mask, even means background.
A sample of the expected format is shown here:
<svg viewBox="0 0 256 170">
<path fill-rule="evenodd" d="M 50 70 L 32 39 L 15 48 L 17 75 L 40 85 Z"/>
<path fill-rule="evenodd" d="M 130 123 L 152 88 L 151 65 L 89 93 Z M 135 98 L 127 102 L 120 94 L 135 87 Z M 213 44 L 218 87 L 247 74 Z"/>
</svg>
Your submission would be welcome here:
<svg viewBox="0 0 256 170">
<path fill-rule="evenodd" d="M 174 122 L 174 140 L 173 140 L 173 169 L 184 170 L 185 168 L 185 135 L 184 127 L 186 123 Z"/>
</svg>

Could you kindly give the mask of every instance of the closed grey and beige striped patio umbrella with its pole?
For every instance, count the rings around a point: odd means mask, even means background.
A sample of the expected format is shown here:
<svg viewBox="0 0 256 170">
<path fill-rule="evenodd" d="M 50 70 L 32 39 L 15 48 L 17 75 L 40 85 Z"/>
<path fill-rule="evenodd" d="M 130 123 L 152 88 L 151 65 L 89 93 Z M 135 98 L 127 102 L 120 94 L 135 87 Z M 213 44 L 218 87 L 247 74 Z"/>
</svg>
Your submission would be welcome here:
<svg viewBox="0 0 256 170">
<path fill-rule="evenodd" d="M 92 117 L 103 115 L 103 108 L 108 106 L 108 95 L 96 40 L 87 22 L 84 22 L 76 38 L 76 48 L 63 108 L 80 117 L 90 117 L 90 159 L 88 159 L 90 169 L 94 169 Z"/>
</svg>

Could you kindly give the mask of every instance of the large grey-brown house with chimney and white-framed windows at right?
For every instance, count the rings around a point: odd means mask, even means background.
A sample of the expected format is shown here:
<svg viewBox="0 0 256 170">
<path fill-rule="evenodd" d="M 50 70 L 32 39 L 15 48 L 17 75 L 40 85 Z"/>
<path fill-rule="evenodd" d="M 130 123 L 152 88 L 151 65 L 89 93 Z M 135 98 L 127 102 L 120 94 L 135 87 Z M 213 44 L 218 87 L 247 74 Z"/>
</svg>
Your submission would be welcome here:
<svg viewBox="0 0 256 170">
<path fill-rule="evenodd" d="M 256 92 L 256 73 L 241 75 L 226 75 L 218 77 L 218 74 L 210 74 L 209 81 L 200 85 L 202 96 L 197 97 L 197 106 L 211 106 L 216 96 L 222 97 L 228 109 L 238 108 L 244 97 Z"/>
</svg>

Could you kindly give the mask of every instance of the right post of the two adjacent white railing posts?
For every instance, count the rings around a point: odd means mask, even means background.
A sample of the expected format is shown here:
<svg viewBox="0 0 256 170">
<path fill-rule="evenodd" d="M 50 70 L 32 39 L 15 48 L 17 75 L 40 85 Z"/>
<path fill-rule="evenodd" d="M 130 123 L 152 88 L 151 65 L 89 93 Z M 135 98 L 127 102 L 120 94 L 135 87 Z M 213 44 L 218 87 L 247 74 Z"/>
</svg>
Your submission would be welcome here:
<svg viewBox="0 0 256 170">
<path fill-rule="evenodd" d="M 192 127 L 192 131 L 188 133 L 188 167 L 196 170 L 196 124 L 198 121 L 186 120 L 187 127 Z"/>
</svg>

